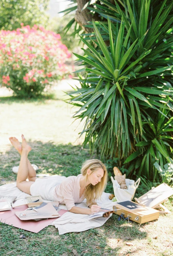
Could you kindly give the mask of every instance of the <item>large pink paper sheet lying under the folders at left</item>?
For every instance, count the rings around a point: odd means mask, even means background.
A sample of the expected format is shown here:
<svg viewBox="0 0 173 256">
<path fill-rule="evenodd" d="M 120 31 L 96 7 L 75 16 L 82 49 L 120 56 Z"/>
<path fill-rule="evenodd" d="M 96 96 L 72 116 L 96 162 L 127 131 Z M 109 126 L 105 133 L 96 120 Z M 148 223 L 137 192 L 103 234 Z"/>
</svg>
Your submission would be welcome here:
<svg viewBox="0 0 173 256">
<path fill-rule="evenodd" d="M 51 224 L 56 218 L 45 219 L 45 220 L 20 220 L 16 215 L 16 211 L 23 211 L 28 208 L 27 205 L 22 205 L 16 208 L 12 208 L 12 210 L 0 211 L 0 221 L 2 223 L 6 223 L 16 228 L 24 229 L 27 231 L 31 231 L 33 233 L 38 233 L 40 230 L 47 227 Z M 67 210 L 61 209 L 58 211 L 59 215 L 62 216 Z M 60 217 L 59 217 L 60 218 Z"/>
</svg>

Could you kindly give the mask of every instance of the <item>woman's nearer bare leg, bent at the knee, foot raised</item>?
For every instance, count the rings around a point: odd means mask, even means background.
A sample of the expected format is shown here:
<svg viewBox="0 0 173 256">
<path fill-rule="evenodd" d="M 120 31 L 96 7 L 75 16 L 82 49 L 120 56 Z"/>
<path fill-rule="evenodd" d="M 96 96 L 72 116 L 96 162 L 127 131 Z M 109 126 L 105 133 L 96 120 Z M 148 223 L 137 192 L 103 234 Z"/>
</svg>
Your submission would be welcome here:
<svg viewBox="0 0 173 256">
<path fill-rule="evenodd" d="M 29 176 L 28 168 L 28 153 L 31 151 L 31 147 L 26 143 L 24 136 L 22 135 L 22 152 L 19 164 L 19 170 L 17 173 L 16 185 L 23 192 L 30 194 L 30 187 L 34 181 L 26 181 Z"/>
</svg>

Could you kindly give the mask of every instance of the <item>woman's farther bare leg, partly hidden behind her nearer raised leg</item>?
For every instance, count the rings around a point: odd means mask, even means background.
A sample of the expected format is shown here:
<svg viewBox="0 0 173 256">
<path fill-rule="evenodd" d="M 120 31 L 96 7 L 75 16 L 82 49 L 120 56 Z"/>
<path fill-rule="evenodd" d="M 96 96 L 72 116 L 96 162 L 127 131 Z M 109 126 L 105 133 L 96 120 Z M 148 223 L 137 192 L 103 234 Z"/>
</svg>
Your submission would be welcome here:
<svg viewBox="0 0 173 256">
<path fill-rule="evenodd" d="M 20 144 L 20 142 L 17 140 L 17 138 L 15 137 L 10 137 L 9 138 L 11 144 L 14 146 L 14 148 L 19 152 L 19 154 L 22 154 L 22 145 Z M 35 181 L 36 177 L 36 172 L 33 169 L 31 163 L 29 160 L 27 160 L 27 164 L 28 164 L 28 179 L 29 181 Z"/>
</svg>

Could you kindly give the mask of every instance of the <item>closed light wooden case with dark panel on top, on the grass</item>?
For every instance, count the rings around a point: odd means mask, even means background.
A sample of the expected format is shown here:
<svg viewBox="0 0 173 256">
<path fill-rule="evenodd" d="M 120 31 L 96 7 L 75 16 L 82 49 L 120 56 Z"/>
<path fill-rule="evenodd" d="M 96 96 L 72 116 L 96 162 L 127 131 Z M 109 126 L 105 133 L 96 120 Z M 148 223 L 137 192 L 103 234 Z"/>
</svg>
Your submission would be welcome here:
<svg viewBox="0 0 173 256">
<path fill-rule="evenodd" d="M 141 206 L 140 204 L 132 201 L 115 204 L 114 213 L 118 215 L 121 215 L 122 213 L 123 217 L 129 217 L 129 220 L 133 220 L 140 224 L 159 218 L 158 210 Z"/>
</svg>

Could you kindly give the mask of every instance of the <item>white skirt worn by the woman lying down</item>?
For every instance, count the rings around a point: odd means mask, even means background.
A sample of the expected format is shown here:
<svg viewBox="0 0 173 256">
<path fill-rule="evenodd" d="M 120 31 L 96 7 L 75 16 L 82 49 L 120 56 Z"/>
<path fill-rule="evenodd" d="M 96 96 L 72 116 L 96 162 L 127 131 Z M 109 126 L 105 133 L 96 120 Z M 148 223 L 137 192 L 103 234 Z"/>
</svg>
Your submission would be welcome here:
<svg viewBox="0 0 173 256">
<path fill-rule="evenodd" d="M 51 176 L 48 178 L 37 178 L 30 187 L 32 196 L 41 196 L 42 199 L 55 201 L 55 188 L 66 179 L 65 176 Z"/>
</svg>

